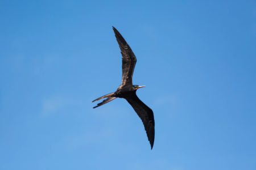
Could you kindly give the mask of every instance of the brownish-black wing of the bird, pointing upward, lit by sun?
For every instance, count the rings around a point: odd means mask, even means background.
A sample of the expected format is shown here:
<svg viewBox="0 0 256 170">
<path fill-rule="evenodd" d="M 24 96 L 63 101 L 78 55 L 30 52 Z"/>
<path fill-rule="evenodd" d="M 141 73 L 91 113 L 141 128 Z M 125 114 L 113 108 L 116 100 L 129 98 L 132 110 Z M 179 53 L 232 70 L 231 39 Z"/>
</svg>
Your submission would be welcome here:
<svg viewBox="0 0 256 170">
<path fill-rule="evenodd" d="M 133 71 L 136 64 L 136 57 L 131 50 L 130 46 L 127 44 L 125 39 L 123 39 L 121 33 L 117 31 L 113 27 L 115 38 L 117 39 L 119 48 L 122 53 L 122 84 L 121 86 L 125 86 L 126 84 L 133 84 Z"/>
</svg>

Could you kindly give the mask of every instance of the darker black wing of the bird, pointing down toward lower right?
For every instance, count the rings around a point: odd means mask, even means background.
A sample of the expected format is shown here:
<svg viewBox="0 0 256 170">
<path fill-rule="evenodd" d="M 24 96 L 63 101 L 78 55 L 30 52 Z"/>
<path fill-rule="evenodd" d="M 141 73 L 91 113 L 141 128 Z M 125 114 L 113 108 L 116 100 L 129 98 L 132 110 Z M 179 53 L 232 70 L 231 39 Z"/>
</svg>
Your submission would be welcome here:
<svg viewBox="0 0 256 170">
<path fill-rule="evenodd" d="M 154 139 L 155 139 L 155 120 L 154 120 L 154 113 L 152 109 L 147 107 L 146 104 L 144 104 L 141 100 L 139 100 L 135 92 L 131 96 L 125 97 L 125 99 L 130 103 L 130 105 L 133 107 L 135 112 L 141 118 L 147 133 L 148 141 L 150 142 L 151 149 L 152 149 L 154 145 Z"/>
</svg>

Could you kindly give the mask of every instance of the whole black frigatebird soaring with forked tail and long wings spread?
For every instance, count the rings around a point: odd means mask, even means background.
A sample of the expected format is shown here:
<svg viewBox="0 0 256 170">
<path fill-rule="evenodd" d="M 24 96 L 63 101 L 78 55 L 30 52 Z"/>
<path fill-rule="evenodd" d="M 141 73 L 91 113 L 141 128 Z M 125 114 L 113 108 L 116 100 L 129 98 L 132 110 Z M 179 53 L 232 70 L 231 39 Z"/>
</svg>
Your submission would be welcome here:
<svg viewBox="0 0 256 170">
<path fill-rule="evenodd" d="M 114 27 L 113 30 L 122 54 L 122 84 L 117 88 L 117 91 L 96 99 L 100 100 L 103 98 L 108 98 L 103 100 L 101 103 L 98 103 L 97 106 L 93 108 L 106 104 L 117 97 L 126 99 L 141 118 L 152 150 L 155 139 L 154 114 L 152 110 L 141 100 L 139 100 L 138 96 L 136 95 L 138 88 L 146 86 L 133 85 L 133 71 L 137 59 L 130 46 L 127 44 L 125 39 L 123 39 L 122 35 Z M 96 100 L 93 100 L 93 102 Z"/>
</svg>

